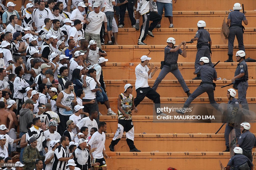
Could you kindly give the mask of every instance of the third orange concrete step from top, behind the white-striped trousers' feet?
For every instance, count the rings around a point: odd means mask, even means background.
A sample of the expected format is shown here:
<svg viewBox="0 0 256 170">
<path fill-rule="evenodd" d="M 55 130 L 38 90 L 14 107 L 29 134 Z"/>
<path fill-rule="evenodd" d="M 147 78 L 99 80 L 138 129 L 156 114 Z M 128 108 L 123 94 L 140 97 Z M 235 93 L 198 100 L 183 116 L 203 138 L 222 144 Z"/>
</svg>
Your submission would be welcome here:
<svg viewBox="0 0 256 170">
<path fill-rule="evenodd" d="M 254 18 L 256 22 L 256 17 Z M 195 28 L 194 25 L 191 25 L 190 28 L 188 26 L 189 25 L 176 28 L 155 28 L 152 31 L 155 37 L 147 36 L 144 43 L 148 45 L 166 45 L 166 40 L 170 36 L 175 38 L 177 44 L 182 41 L 190 41 L 191 38 L 196 35 L 197 28 Z M 207 25 L 205 29 L 209 31 L 213 44 L 225 44 L 220 37 L 221 25 L 218 25 L 217 28 Z M 136 45 L 138 43 L 139 36 L 140 31 L 136 31 L 135 28 L 119 28 L 118 43 L 120 45 Z M 243 43 L 255 44 L 254 41 L 251 41 L 254 37 L 256 38 L 256 28 L 249 28 L 248 26 L 243 34 Z M 234 44 L 238 44 L 237 39 L 235 39 Z"/>
</svg>

